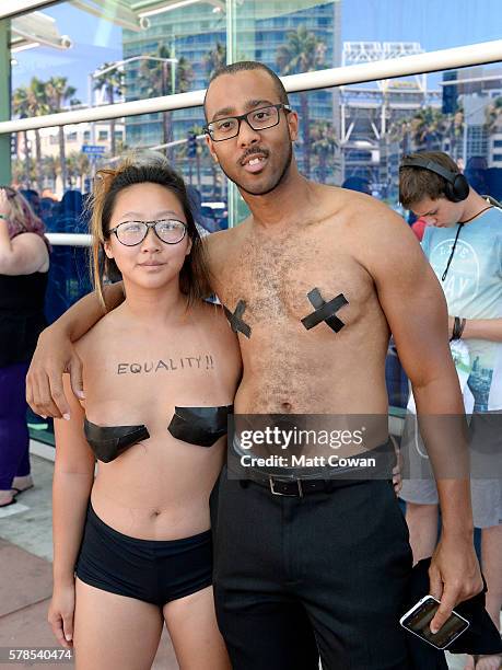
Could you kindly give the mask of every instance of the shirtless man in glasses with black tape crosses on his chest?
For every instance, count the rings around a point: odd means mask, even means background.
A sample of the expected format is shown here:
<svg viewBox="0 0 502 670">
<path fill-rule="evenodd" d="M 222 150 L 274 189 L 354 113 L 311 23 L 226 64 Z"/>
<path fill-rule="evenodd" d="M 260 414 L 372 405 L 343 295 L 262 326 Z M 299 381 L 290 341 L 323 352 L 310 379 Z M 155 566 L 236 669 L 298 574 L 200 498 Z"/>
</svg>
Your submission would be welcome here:
<svg viewBox="0 0 502 670">
<path fill-rule="evenodd" d="M 386 415 L 392 332 L 419 412 L 462 415 L 442 291 L 404 221 L 369 196 L 299 173 L 297 115 L 261 63 L 217 73 L 205 111 L 209 150 L 252 211 L 207 239 L 213 289 L 244 361 L 236 414 Z M 327 302 L 345 296 L 341 326 L 302 323 L 317 309 L 315 288 Z M 110 287 L 109 307 L 120 293 Z M 100 315 L 86 297 L 40 336 L 27 392 L 38 413 L 68 413 L 63 368 L 81 388 L 71 340 Z M 428 443 L 434 467 L 443 447 Z M 398 619 L 411 554 L 392 485 L 249 480 L 223 476 L 219 490 L 215 601 L 233 668 L 314 670 L 318 652 L 324 670 L 408 668 Z M 468 477 L 440 478 L 437 488 L 443 532 L 430 592 L 442 605 L 433 631 L 482 587 Z"/>
</svg>

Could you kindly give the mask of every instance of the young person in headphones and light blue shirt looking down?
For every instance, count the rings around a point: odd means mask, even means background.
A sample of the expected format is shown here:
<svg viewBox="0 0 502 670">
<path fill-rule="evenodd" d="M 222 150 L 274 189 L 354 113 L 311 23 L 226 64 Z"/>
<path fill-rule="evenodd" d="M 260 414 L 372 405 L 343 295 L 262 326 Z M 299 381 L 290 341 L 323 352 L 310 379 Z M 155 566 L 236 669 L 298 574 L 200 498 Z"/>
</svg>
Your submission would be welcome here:
<svg viewBox="0 0 502 670">
<path fill-rule="evenodd" d="M 443 288 L 450 338 L 459 380 L 464 378 L 470 421 L 471 498 L 481 529 L 487 610 L 497 626 L 502 605 L 502 209 L 476 193 L 445 153 L 405 157 L 399 199 L 428 223 L 422 249 Z M 462 369 L 462 372 L 460 372 Z M 406 448 L 406 444 L 405 444 Z M 411 446 L 410 464 L 413 465 Z M 415 463 L 417 463 L 415 453 Z M 423 458 L 421 476 L 423 477 Z M 425 457 L 427 458 L 427 457 Z M 411 476 L 417 471 L 411 470 Z M 432 555 L 437 540 L 437 492 L 432 476 L 405 480 L 413 561 Z M 498 670 L 501 658 L 469 657 L 466 669 Z"/>
</svg>

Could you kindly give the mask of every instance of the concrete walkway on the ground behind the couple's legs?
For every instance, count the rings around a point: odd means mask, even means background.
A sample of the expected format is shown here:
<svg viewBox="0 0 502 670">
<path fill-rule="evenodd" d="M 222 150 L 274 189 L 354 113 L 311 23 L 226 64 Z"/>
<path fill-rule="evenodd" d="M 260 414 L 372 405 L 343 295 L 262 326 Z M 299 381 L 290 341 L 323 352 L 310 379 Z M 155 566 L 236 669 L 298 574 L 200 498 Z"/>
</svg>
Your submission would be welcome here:
<svg viewBox="0 0 502 670">
<path fill-rule="evenodd" d="M 50 447 L 33 443 L 33 448 L 49 458 L 54 454 Z M 5 648 L 57 647 L 47 623 L 52 590 L 52 469 L 50 460 L 32 455 L 35 487 L 23 493 L 15 505 L 0 510 L 0 654 L 5 654 Z M 464 668 L 462 658 L 450 656 L 448 662 L 452 670 Z M 0 660 L 0 668 L 14 667 L 71 668 L 73 662 L 12 665 Z M 178 670 L 165 627 L 152 668 Z"/>
</svg>

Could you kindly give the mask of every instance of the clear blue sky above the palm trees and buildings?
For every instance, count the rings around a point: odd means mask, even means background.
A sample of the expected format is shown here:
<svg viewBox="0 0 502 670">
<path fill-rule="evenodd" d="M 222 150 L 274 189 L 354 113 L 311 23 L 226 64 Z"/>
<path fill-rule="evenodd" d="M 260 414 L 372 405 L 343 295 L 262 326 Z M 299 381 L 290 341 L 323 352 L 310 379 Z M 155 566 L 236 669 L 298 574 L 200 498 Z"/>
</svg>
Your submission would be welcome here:
<svg viewBox="0 0 502 670">
<path fill-rule="evenodd" d="M 105 61 L 121 58 L 121 30 L 67 2 L 44 10 L 74 47 L 68 51 L 37 48 L 16 55 L 13 86 L 34 76 L 68 77 L 77 97 L 87 101 L 87 74 Z M 342 41 L 419 42 L 436 50 L 502 37 L 500 0 L 343 0 Z M 430 78 L 430 85 L 439 76 Z"/>
</svg>

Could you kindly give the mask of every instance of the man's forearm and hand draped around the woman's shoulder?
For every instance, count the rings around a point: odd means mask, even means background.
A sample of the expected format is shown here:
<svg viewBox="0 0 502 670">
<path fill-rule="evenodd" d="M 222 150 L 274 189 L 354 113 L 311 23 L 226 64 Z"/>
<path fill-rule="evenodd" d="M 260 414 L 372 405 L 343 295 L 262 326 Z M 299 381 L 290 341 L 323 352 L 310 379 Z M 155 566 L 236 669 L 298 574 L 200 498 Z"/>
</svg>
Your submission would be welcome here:
<svg viewBox="0 0 502 670">
<path fill-rule="evenodd" d="M 95 293 L 73 304 L 38 337 L 26 377 L 26 401 L 36 414 L 69 418 L 70 405 L 62 388 L 62 373 L 69 372 L 77 397 L 83 397 L 82 362 L 73 342 L 124 300 L 121 281 L 105 287 L 106 310 Z"/>
</svg>

